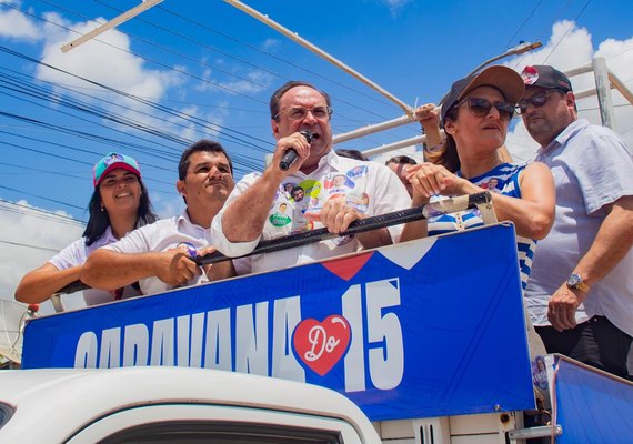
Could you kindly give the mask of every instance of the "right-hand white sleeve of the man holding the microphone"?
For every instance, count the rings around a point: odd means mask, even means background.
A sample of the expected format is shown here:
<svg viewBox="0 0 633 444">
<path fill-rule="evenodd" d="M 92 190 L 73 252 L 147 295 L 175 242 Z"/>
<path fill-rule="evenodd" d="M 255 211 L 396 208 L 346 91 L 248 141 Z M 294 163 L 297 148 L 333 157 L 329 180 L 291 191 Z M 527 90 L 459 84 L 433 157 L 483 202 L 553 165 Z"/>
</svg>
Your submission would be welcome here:
<svg viewBox="0 0 633 444">
<path fill-rule="evenodd" d="M 380 215 L 394 211 L 404 210 L 411 206 L 409 192 L 393 171 L 388 167 L 375 164 L 375 182 L 373 183 L 374 205 L 373 214 Z M 403 224 L 388 226 L 389 234 L 393 243 L 400 242 Z"/>
</svg>

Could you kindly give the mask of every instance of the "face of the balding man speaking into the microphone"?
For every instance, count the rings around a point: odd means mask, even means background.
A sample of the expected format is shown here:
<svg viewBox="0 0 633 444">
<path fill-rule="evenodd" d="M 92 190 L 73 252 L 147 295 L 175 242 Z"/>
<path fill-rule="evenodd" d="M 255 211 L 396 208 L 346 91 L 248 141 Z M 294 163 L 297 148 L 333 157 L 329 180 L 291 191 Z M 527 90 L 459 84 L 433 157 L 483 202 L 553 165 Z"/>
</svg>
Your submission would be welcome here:
<svg viewBox="0 0 633 444">
<path fill-rule="evenodd" d="M 312 132 L 310 157 L 303 162 L 305 167 L 319 163 L 319 160 L 332 149 L 332 128 L 330 115 L 316 118 L 313 112 L 307 112 L 302 119 L 293 119 L 293 109 L 324 109 L 328 107 L 325 98 L 310 87 L 294 87 L 288 90 L 279 101 L 278 120 L 271 120 L 272 132 L 277 140 L 285 138 L 298 131 Z"/>
</svg>

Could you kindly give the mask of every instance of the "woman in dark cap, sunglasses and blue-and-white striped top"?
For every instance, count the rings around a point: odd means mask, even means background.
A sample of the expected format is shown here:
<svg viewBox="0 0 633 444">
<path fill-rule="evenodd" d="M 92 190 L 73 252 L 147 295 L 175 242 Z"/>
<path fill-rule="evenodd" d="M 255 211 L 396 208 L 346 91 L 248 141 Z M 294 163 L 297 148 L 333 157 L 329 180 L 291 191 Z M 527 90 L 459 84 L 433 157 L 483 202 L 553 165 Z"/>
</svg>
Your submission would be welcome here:
<svg viewBox="0 0 633 444">
<path fill-rule="evenodd" d="M 552 173 L 545 164 L 511 164 L 499 153 L 523 90 L 521 77 L 505 67 L 490 67 L 453 83 L 442 104 L 444 147 L 433 163 L 412 167 L 408 179 L 413 205 L 428 203 L 432 196 L 482 192 L 494 184 L 489 191 L 496 216 L 512 221 L 516 229 L 525 289 L 535 241 L 549 233 L 554 220 L 555 198 Z M 408 224 L 402 241 L 481 224 L 476 210 L 446 214 Z"/>
</svg>

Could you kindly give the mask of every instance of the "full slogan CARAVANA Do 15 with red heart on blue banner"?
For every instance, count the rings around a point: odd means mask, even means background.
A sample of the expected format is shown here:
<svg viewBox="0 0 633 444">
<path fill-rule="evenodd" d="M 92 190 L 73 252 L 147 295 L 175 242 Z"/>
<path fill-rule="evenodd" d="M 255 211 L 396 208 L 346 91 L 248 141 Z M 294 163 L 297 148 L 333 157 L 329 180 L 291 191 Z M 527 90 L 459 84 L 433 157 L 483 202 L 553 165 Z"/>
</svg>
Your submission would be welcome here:
<svg viewBox="0 0 633 444">
<path fill-rule="evenodd" d="M 322 322 L 302 320 L 300 296 L 292 296 L 161 319 L 151 329 L 88 331 L 74 367 L 177 365 L 305 382 L 307 371 L 324 376 L 342 360 L 345 392 L 391 390 L 404 373 L 400 303 L 399 280 L 388 279 L 351 285 L 332 306 L 341 315 Z"/>
</svg>

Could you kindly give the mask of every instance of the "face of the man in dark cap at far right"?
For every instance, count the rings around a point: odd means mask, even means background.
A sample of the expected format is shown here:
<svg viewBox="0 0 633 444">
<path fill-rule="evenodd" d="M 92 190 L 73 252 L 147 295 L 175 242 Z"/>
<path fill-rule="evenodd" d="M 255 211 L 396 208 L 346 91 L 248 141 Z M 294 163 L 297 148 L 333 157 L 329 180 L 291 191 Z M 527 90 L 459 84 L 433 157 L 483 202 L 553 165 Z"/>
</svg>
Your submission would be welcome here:
<svg viewBox="0 0 633 444">
<path fill-rule="evenodd" d="M 535 107 L 531 99 L 545 99 L 542 107 Z M 555 89 L 531 87 L 525 89 L 523 99 L 528 108 L 521 113 L 523 124 L 530 135 L 541 144 L 549 145 L 574 118 L 574 94 Z"/>
</svg>

